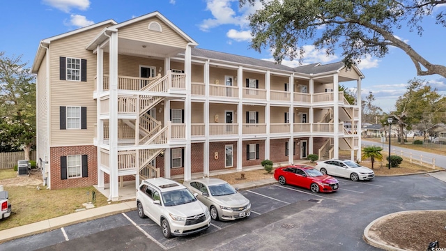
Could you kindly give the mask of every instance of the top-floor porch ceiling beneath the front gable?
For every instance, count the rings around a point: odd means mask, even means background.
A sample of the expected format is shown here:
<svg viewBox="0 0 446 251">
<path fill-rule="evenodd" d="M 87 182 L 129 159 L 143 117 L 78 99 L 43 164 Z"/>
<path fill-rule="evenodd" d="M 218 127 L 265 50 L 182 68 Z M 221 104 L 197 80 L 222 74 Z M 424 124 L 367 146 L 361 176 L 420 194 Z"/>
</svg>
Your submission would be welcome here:
<svg viewBox="0 0 446 251">
<path fill-rule="evenodd" d="M 109 43 L 103 47 L 104 52 L 109 53 Z M 160 45 L 155 43 L 146 43 L 138 40 L 129 40 L 125 38 L 118 39 L 118 54 L 129 56 L 153 56 L 169 57 L 176 56 L 178 53 L 184 53 L 185 48 L 172 47 L 169 45 Z"/>
</svg>

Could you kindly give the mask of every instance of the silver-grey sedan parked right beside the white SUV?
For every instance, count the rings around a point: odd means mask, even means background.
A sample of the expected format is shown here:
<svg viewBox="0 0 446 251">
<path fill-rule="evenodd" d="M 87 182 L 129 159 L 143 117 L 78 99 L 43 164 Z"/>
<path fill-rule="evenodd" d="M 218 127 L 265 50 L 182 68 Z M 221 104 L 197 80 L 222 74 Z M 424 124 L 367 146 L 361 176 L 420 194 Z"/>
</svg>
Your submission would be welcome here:
<svg viewBox="0 0 446 251">
<path fill-rule="evenodd" d="M 251 213 L 251 203 L 220 178 L 198 178 L 183 183 L 205 204 L 213 220 L 236 220 Z"/>
</svg>

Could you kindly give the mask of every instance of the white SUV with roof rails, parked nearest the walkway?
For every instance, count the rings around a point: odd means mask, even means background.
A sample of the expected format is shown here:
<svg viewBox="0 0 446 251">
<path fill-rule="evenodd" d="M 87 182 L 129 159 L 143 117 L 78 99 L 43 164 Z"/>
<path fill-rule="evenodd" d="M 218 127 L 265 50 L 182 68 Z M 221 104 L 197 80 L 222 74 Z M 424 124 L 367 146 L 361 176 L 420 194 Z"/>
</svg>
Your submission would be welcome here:
<svg viewBox="0 0 446 251">
<path fill-rule="evenodd" d="M 149 178 L 137 189 L 140 218 L 151 218 L 166 238 L 194 234 L 210 226 L 209 210 L 184 185 L 167 178 Z"/>
</svg>

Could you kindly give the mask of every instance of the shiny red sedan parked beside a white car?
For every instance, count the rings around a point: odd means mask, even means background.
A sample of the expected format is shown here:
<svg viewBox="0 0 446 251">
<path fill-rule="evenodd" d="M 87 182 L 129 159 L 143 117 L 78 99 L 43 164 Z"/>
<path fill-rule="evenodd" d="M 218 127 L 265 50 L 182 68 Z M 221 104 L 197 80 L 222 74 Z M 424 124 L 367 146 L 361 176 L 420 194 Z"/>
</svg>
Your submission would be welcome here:
<svg viewBox="0 0 446 251">
<path fill-rule="evenodd" d="M 275 169 L 274 178 L 280 185 L 297 185 L 312 192 L 334 192 L 339 188 L 339 181 L 336 178 L 322 174 L 307 165 L 279 167 Z"/>
</svg>

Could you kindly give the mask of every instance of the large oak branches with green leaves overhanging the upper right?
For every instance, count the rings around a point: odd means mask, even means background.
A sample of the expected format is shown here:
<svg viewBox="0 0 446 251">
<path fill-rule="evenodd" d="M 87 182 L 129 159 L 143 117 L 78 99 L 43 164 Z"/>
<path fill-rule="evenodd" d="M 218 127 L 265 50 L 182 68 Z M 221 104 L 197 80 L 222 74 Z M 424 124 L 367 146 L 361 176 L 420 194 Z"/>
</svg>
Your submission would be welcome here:
<svg viewBox="0 0 446 251">
<path fill-rule="evenodd" d="M 312 41 L 317 49 L 334 54 L 340 48 L 350 67 L 362 56 L 383 57 L 389 47 L 398 47 L 413 61 L 417 75 L 446 77 L 446 66 L 431 63 L 408 43 L 394 36 L 408 27 L 422 36 L 424 17 L 446 0 L 239 0 L 240 6 L 260 1 L 263 8 L 249 16 L 251 46 L 274 50 L 278 63 L 288 56 L 300 58 L 302 45 Z M 437 11 L 437 10 L 436 10 Z M 444 8 L 438 8 L 436 24 L 446 26 Z M 439 31 L 442 32 L 442 31 Z M 444 31 L 443 31 L 444 32 Z M 435 43 L 435 42 L 434 42 Z"/>
</svg>

